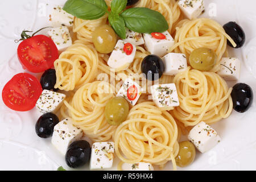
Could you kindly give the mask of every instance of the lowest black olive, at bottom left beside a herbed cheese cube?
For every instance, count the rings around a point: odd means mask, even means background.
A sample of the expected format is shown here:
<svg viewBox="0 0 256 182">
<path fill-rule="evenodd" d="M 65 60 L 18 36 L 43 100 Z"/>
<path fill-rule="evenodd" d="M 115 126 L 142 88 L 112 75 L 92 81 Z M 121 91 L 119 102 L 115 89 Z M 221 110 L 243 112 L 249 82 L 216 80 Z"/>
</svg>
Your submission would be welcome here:
<svg viewBox="0 0 256 182">
<path fill-rule="evenodd" d="M 90 144 L 85 140 L 79 140 L 68 146 L 65 156 L 66 163 L 71 168 L 81 167 L 90 160 Z"/>
</svg>

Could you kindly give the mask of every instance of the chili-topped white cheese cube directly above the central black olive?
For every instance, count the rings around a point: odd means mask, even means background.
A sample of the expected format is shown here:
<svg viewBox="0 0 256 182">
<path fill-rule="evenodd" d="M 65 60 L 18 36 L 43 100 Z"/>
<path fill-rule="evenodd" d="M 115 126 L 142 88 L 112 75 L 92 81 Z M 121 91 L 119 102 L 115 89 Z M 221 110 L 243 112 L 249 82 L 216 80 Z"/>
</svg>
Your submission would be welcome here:
<svg viewBox="0 0 256 182">
<path fill-rule="evenodd" d="M 166 36 L 165 39 L 156 39 L 151 34 L 144 34 L 145 46 L 148 52 L 152 55 L 160 57 L 168 53 L 168 49 L 174 46 L 174 39 L 168 31 L 162 33 Z"/>
</svg>

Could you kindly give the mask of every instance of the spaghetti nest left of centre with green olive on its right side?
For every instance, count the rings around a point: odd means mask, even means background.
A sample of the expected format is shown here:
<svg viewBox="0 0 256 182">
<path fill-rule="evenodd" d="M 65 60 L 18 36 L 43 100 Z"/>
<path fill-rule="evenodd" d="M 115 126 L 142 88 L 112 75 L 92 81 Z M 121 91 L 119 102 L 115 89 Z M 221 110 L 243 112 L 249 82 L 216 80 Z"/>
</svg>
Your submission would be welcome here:
<svg viewBox="0 0 256 182">
<path fill-rule="evenodd" d="M 108 82 L 94 81 L 78 89 L 72 100 L 64 101 L 73 124 L 80 127 L 93 141 L 108 141 L 116 126 L 105 119 L 105 106 L 114 97 L 114 88 Z"/>
</svg>

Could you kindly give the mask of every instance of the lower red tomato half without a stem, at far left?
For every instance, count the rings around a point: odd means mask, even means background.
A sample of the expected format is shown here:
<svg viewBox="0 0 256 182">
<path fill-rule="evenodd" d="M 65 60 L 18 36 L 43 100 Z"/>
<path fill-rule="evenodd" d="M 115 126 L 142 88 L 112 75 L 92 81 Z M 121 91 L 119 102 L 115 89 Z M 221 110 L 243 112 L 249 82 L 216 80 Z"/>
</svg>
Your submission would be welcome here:
<svg viewBox="0 0 256 182">
<path fill-rule="evenodd" d="M 10 109 L 28 111 L 36 105 L 42 91 L 36 77 L 28 73 L 19 73 L 3 87 L 2 99 Z"/>
</svg>

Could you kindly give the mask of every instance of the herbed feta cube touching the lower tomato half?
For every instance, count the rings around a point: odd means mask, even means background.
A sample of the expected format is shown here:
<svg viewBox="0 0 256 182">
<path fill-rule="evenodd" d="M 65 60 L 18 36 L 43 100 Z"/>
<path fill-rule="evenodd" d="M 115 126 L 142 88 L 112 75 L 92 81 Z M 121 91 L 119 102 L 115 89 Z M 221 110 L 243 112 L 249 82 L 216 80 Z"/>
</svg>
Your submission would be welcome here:
<svg viewBox="0 0 256 182">
<path fill-rule="evenodd" d="M 51 90 L 43 90 L 38 101 L 36 101 L 36 109 L 41 113 L 55 113 L 63 104 L 65 94 L 53 92 Z"/>
</svg>

